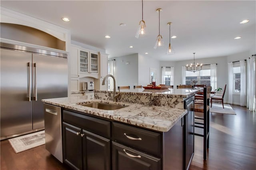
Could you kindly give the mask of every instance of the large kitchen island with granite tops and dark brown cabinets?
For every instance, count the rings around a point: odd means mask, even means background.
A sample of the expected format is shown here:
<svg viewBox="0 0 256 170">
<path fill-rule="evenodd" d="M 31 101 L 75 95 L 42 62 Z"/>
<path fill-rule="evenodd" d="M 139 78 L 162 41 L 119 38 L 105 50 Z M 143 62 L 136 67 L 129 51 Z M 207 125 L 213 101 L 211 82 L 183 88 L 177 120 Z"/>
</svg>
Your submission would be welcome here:
<svg viewBox="0 0 256 170">
<path fill-rule="evenodd" d="M 184 106 L 168 107 L 161 98 L 184 101 L 198 89 L 190 93 L 182 89 L 185 94 L 133 90 L 121 91 L 117 102 L 109 100 L 109 91 L 94 91 L 94 99 L 79 96 L 42 100 L 61 108 L 64 163 L 74 169 L 188 168 L 194 153 L 194 141 L 192 145 L 187 141 L 189 134 L 194 140 L 194 130 L 192 133 L 187 130 L 193 126 L 189 125 L 188 118 L 194 124 L 194 112 L 188 112 Z M 156 100 L 155 97 L 160 102 L 150 101 Z M 102 110 L 82 106 L 88 103 L 124 108 Z M 181 104 L 175 106 L 178 105 Z M 186 158 L 188 150 L 191 152 L 189 161 Z"/>
</svg>

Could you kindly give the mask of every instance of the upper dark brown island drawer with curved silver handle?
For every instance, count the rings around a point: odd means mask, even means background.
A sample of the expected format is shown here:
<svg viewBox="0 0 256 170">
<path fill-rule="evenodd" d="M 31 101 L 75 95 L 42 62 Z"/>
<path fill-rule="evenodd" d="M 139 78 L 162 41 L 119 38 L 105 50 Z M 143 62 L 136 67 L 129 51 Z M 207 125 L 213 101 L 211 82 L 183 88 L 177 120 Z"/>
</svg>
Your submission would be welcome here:
<svg viewBox="0 0 256 170">
<path fill-rule="evenodd" d="M 113 122 L 112 141 L 131 146 L 158 157 L 161 156 L 160 133 Z"/>
</svg>

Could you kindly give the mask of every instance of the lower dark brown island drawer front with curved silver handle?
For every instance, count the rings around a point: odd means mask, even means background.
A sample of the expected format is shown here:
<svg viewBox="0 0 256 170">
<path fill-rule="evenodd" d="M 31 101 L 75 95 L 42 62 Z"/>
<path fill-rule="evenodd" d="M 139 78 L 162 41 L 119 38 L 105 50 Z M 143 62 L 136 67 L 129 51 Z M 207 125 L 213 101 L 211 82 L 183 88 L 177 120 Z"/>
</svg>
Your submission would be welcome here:
<svg viewBox="0 0 256 170">
<path fill-rule="evenodd" d="M 160 170 L 160 159 L 112 142 L 112 170 Z"/>
</svg>

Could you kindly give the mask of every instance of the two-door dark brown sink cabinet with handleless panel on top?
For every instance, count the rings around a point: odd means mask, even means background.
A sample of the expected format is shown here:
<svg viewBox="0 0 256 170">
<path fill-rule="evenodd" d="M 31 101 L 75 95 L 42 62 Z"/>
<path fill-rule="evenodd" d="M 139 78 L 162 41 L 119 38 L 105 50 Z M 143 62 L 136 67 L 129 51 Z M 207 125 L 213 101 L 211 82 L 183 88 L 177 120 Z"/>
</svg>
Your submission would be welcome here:
<svg viewBox="0 0 256 170">
<path fill-rule="evenodd" d="M 76 170 L 110 170 L 110 139 L 93 133 L 103 126 L 100 134 L 108 136 L 109 131 L 110 135 L 110 122 L 70 111 L 63 111 L 63 121 L 68 122 L 63 122 L 64 162 Z M 91 126 L 84 129 L 88 125 Z"/>
</svg>

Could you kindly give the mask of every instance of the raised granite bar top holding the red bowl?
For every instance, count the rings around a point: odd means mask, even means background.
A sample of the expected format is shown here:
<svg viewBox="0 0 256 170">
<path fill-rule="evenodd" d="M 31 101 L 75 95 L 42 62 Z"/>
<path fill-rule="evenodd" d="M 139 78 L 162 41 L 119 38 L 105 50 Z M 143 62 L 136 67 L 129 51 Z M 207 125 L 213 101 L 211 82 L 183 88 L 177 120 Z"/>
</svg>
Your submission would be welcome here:
<svg viewBox="0 0 256 170">
<path fill-rule="evenodd" d="M 196 92 L 200 91 L 202 88 L 191 88 L 191 89 L 176 89 L 176 88 L 169 88 L 169 89 L 121 89 L 120 94 L 134 94 L 134 95 L 171 95 L 172 97 L 182 97 L 187 98 L 194 95 Z M 105 92 L 111 93 L 112 91 L 98 91 L 95 92 Z M 117 91 L 118 92 L 118 91 Z"/>
</svg>

